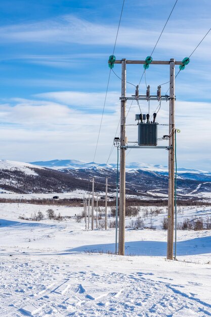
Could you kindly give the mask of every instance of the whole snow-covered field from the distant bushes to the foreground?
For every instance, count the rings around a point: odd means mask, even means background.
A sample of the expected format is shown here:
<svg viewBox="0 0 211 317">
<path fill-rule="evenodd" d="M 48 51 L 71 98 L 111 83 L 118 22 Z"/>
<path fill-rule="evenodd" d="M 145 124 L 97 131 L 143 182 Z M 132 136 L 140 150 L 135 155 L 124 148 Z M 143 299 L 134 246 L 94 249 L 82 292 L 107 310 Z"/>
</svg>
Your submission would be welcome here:
<svg viewBox="0 0 211 317">
<path fill-rule="evenodd" d="M 211 230 L 178 230 L 178 261 L 167 261 L 166 208 L 144 207 L 149 228 L 125 230 L 123 257 L 113 254 L 114 228 L 76 222 L 82 207 L 0 205 L 0 316 L 211 315 Z M 71 218 L 47 219 L 49 208 Z M 41 221 L 19 218 L 39 211 Z M 178 221 L 210 216 L 210 207 L 183 207 Z"/>
</svg>

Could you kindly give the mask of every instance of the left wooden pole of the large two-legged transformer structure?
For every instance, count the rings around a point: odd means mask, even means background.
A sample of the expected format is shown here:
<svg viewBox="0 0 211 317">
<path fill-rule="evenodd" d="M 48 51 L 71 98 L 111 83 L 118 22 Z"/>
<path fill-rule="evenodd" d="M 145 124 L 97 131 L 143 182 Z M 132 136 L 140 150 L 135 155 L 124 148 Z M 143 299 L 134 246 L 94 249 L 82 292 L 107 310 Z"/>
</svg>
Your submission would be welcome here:
<svg viewBox="0 0 211 317">
<path fill-rule="evenodd" d="M 121 60 L 121 118 L 120 118 L 120 183 L 119 183 L 119 255 L 124 255 L 125 226 L 125 107 L 126 59 Z"/>
</svg>

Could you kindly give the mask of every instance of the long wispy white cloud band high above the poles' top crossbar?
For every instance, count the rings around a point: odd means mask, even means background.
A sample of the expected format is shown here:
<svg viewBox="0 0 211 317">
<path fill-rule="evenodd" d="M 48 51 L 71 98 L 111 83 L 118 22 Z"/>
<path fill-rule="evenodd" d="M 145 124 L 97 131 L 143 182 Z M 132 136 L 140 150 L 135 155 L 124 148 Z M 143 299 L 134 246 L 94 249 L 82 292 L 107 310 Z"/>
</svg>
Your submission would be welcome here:
<svg viewBox="0 0 211 317">
<path fill-rule="evenodd" d="M 122 26 L 118 36 L 118 46 L 139 47 L 142 49 L 153 47 L 160 31 L 155 30 L 152 21 L 150 23 L 148 29 L 146 29 L 146 25 L 139 26 L 139 28 Z M 206 28 L 203 21 L 201 28 L 193 30 L 189 27 L 184 32 L 184 23 L 184 21 L 183 23 L 178 23 L 176 29 L 168 28 L 165 30 L 157 49 L 165 49 L 167 52 L 174 51 L 176 54 L 181 53 L 181 49 L 191 52 L 194 45 L 198 44 Z M 55 45 L 62 42 L 80 45 L 112 46 L 115 33 L 116 26 L 93 23 L 72 15 L 66 15 L 55 20 L 1 27 L 0 40 L 6 43 L 28 42 Z M 205 41 L 206 45 L 210 45 L 210 38 L 207 37 Z M 199 52 L 201 50 L 200 48 Z M 205 55 L 207 56 L 206 52 Z"/>
</svg>

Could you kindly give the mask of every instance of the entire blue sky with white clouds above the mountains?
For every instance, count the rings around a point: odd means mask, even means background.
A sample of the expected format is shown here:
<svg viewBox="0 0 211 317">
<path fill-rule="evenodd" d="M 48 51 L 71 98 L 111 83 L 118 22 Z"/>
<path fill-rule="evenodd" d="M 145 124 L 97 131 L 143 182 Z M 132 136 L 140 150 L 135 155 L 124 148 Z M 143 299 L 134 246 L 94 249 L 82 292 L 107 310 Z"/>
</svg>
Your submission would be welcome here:
<svg viewBox="0 0 211 317">
<path fill-rule="evenodd" d="M 116 43 L 117 59 L 145 59 L 175 0 L 125 0 Z M 0 3 L 0 142 L 1 158 L 16 161 L 76 159 L 92 161 L 98 138 L 109 68 L 122 0 L 10 0 Z M 210 28 L 208 0 L 178 0 L 153 53 L 154 60 L 189 56 Z M 178 164 L 210 170 L 211 32 L 176 79 Z M 120 65 L 115 65 L 120 75 Z M 178 71 L 178 67 L 176 68 Z M 140 81 L 142 65 L 128 65 L 127 80 Z M 155 93 L 168 81 L 168 66 L 151 65 L 146 82 Z M 162 86 L 163 93 L 168 89 Z M 145 93 L 145 78 L 140 90 Z M 127 94 L 134 87 L 127 86 Z M 120 80 L 111 73 L 96 159 L 106 162 L 119 121 Z M 127 107 L 130 107 L 128 102 Z M 147 112 L 146 102 L 141 103 Z M 157 107 L 151 102 L 150 112 Z M 157 121 L 167 124 L 168 103 Z M 133 104 L 127 124 L 135 124 Z M 166 126 L 158 135 L 167 134 Z M 117 133 L 118 134 L 118 133 Z M 128 126 L 136 141 L 137 127 Z M 162 141 L 160 145 L 167 145 Z M 167 164 L 165 150 L 131 150 L 128 162 Z M 113 151 L 109 162 L 116 161 Z M 108 163 L 109 163 L 108 162 Z"/>
</svg>

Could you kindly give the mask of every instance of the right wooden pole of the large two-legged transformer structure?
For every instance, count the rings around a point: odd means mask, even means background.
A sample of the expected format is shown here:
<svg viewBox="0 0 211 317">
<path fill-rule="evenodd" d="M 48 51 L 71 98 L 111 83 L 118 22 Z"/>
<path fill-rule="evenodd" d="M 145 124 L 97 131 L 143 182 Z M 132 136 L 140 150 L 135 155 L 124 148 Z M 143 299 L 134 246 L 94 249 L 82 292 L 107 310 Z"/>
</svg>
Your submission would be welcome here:
<svg viewBox="0 0 211 317">
<path fill-rule="evenodd" d="M 167 259 L 173 260 L 174 246 L 174 190 L 175 190 L 175 60 L 170 60 L 170 113 L 168 150 L 168 229 Z"/>
</svg>

